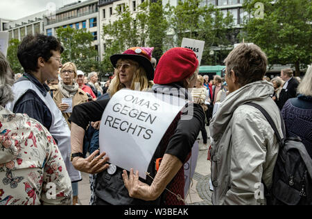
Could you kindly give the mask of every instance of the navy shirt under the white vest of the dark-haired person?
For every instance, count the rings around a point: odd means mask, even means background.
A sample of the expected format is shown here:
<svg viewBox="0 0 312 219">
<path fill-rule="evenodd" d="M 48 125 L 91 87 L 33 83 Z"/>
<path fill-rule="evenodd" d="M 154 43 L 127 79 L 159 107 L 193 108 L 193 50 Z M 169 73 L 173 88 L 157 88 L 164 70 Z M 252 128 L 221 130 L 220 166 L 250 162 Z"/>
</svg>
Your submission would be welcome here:
<svg viewBox="0 0 312 219">
<path fill-rule="evenodd" d="M 50 88 L 46 83 L 42 85 L 42 83 L 37 80 L 30 73 L 24 73 L 23 77 L 19 78 L 17 82 L 20 80 L 30 80 L 36 87 L 39 89 L 43 96 L 46 96 L 50 91 Z M 15 103 L 13 112 L 28 114 L 31 118 L 39 121 L 44 125 L 48 130 L 52 124 L 52 114 L 49 108 L 46 106 L 44 101 L 36 94 L 32 89 L 28 89 L 19 100 Z"/>
</svg>

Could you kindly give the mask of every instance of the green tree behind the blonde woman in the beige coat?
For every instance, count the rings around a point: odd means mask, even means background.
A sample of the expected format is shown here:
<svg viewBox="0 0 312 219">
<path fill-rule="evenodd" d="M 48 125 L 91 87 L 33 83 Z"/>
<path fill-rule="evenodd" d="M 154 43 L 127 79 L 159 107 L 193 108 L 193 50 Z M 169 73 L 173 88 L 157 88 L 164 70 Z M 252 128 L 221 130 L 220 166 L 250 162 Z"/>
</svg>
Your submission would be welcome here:
<svg viewBox="0 0 312 219">
<path fill-rule="evenodd" d="M 73 62 L 84 72 L 101 71 L 101 65 L 96 60 L 97 51 L 92 46 L 94 36 L 85 29 L 58 28 L 58 39 L 64 46 L 63 64 Z"/>
</svg>

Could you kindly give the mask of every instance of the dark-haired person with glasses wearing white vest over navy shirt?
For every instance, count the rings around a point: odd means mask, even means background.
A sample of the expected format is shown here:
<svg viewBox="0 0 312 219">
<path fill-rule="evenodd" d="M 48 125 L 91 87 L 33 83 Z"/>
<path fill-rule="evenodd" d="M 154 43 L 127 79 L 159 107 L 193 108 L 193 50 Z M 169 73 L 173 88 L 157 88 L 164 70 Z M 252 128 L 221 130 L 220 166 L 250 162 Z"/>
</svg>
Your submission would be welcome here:
<svg viewBox="0 0 312 219">
<path fill-rule="evenodd" d="M 73 168 L 69 160 L 70 130 L 45 83 L 46 80 L 58 78 L 62 51 L 60 42 L 53 36 L 38 34 L 24 37 L 19 44 L 17 57 L 25 73 L 12 86 L 15 98 L 6 108 L 15 113 L 28 114 L 49 130 L 58 143 L 71 182 L 77 182 L 81 179 L 80 172 Z"/>
</svg>

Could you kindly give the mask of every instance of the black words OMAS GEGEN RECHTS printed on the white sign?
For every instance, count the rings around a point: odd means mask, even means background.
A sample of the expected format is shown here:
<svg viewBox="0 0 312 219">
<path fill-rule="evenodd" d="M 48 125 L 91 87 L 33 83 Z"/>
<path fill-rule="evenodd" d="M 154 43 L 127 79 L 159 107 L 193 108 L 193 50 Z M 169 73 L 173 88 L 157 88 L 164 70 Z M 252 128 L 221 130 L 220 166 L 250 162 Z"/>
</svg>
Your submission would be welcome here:
<svg viewBox="0 0 312 219">
<path fill-rule="evenodd" d="M 143 109 L 156 111 L 159 107 L 158 103 L 150 103 L 149 100 L 144 100 L 144 98 L 138 98 L 132 95 L 127 95 L 123 98 L 128 104 L 116 103 L 112 107 L 112 111 L 117 114 L 122 114 L 129 117 L 128 120 L 122 120 L 116 116 L 107 116 L 105 120 L 105 125 L 109 125 L 111 128 L 116 130 L 121 130 L 122 132 L 131 133 L 137 135 L 137 137 L 143 137 L 144 139 L 150 139 L 153 134 L 153 130 L 146 128 L 142 125 L 137 125 L 135 121 L 142 121 L 153 125 L 157 116 L 154 116 L 148 112 L 144 112 Z M 137 107 L 139 106 L 139 107 Z M 141 110 L 139 110 L 139 109 Z M 143 108 L 143 109 L 142 109 Z M 123 118 L 124 118 L 123 116 Z"/>
</svg>

